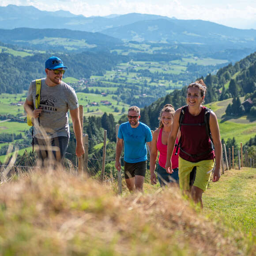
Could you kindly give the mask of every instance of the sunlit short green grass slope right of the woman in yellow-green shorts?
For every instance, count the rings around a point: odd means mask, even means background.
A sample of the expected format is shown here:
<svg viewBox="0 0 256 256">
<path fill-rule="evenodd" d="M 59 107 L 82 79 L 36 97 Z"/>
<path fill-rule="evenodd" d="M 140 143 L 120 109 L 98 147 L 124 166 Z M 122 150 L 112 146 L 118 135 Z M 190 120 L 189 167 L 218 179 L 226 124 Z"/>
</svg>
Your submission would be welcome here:
<svg viewBox="0 0 256 256">
<path fill-rule="evenodd" d="M 256 169 L 231 169 L 203 195 L 204 211 L 250 233 L 256 243 Z"/>
</svg>

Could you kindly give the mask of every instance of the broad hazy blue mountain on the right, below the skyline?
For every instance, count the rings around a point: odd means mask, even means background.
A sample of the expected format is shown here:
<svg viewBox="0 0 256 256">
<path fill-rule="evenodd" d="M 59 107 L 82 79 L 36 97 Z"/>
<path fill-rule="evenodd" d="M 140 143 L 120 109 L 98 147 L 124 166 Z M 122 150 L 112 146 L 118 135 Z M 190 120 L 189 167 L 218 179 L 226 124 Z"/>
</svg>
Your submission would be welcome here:
<svg viewBox="0 0 256 256">
<path fill-rule="evenodd" d="M 135 41 L 166 41 L 241 48 L 256 45 L 256 30 L 235 29 L 203 20 L 143 20 L 102 30 L 115 38 Z"/>
</svg>

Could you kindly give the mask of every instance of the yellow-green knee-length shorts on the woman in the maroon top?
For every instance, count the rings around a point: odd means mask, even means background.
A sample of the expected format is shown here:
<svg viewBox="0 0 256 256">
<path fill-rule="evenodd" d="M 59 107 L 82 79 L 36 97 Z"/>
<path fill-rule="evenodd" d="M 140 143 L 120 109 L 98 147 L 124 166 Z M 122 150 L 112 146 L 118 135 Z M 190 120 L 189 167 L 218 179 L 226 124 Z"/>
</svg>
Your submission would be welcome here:
<svg viewBox="0 0 256 256">
<path fill-rule="evenodd" d="M 181 190 L 189 190 L 190 173 L 196 166 L 196 178 L 193 186 L 206 191 L 210 180 L 211 171 L 214 167 L 214 160 L 203 160 L 200 162 L 189 162 L 179 157 L 179 178 Z"/>
</svg>

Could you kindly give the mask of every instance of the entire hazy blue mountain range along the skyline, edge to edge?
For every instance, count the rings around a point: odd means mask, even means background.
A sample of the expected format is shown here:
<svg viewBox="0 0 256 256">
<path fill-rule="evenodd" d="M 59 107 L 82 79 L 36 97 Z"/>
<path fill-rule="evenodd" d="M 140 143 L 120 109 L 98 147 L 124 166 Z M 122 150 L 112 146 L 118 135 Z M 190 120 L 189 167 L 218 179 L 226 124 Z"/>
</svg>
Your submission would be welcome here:
<svg viewBox="0 0 256 256">
<path fill-rule="evenodd" d="M 0 28 L 20 27 L 100 32 L 122 40 L 218 45 L 220 49 L 255 48 L 256 45 L 256 30 L 236 29 L 203 20 L 139 13 L 85 17 L 68 11 L 40 11 L 32 6 L 0 7 Z"/>
</svg>

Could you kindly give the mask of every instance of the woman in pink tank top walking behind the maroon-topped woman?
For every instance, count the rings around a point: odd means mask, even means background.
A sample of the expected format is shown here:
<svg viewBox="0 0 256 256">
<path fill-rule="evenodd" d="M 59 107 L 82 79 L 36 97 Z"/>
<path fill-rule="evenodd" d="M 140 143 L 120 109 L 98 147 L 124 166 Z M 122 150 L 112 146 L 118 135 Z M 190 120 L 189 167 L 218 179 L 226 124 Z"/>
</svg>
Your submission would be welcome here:
<svg viewBox="0 0 256 256">
<path fill-rule="evenodd" d="M 156 184 L 156 175 L 154 170 L 156 168 L 156 160 L 159 151 L 159 160 L 157 167 L 157 177 L 160 183 L 160 186 L 164 186 L 166 184 L 171 184 L 175 182 L 179 184 L 179 176 L 178 176 L 178 154 L 175 154 L 173 151 L 171 162 L 172 162 L 172 173 L 167 173 L 166 166 L 166 155 L 167 155 L 167 140 L 169 134 L 171 132 L 173 126 L 173 117 L 175 110 L 173 105 L 166 104 L 163 109 L 160 111 L 159 116 L 159 127 L 153 133 L 153 139 L 151 143 L 151 154 L 150 154 L 150 173 L 151 173 L 151 184 Z M 178 132 L 178 136 L 176 138 L 176 144 L 178 143 L 178 139 L 180 138 L 180 132 Z"/>
</svg>

